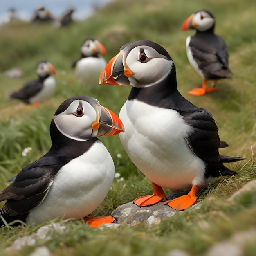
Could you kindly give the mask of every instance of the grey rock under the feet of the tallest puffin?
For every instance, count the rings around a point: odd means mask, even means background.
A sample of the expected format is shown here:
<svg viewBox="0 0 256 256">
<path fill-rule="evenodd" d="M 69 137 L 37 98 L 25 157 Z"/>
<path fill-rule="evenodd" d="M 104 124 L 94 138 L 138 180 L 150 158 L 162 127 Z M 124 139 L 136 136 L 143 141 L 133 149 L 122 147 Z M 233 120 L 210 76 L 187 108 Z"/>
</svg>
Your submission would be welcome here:
<svg viewBox="0 0 256 256">
<path fill-rule="evenodd" d="M 167 199 L 169 200 L 185 195 L 188 191 L 189 190 L 183 190 L 172 193 L 167 196 Z M 133 204 L 133 202 L 129 202 L 117 207 L 112 212 L 112 216 L 117 219 L 118 223 L 136 225 L 138 223 L 148 222 L 149 225 L 158 225 L 162 220 L 170 218 L 177 212 L 178 211 L 168 205 L 164 205 L 163 202 L 146 207 L 138 207 L 136 204 Z"/>
</svg>

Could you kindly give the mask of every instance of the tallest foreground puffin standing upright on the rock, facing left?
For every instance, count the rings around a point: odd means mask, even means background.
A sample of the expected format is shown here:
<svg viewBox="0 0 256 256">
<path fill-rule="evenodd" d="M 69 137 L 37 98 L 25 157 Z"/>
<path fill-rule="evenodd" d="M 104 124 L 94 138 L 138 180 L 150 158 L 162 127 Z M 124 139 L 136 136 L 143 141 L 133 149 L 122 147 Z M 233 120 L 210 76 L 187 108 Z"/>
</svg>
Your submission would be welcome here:
<svg viewBox="0 0 256 256">
<path fill-rule="evenodd" d="M 153 195 L 134 200 L 139 207 L 164 200 L 184 210 L 195 203 L 200 186 L 236 174 L 223 163 L 244 158 L 219 154 L 228 144 L 220 141 L 216 121 L 209 111 L 182 97 L 175 65 L 162 46 L 148 40 L 122 46 L 102 71 L 99 84 L 132 85 L 119 113 L 125 127 L 119 137 L 132 162 L 152 182 Z M 190 191 L 166 200 L 162 188 Z"/>
</svg>

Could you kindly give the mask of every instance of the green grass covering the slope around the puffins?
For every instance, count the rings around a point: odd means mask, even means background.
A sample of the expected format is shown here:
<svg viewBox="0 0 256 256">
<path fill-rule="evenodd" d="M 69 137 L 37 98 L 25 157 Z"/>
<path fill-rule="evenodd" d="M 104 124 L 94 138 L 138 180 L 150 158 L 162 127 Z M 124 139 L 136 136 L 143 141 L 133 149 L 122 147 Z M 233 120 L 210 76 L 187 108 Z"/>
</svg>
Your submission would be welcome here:
<svg viewBox="0 0 256 256">
<path fill-rule="evenodd" d="M 216 34 L 229 47 L 233 79 L 219 81 L 213 94 L 193 97 L 186 92 L 200 86 L 201 79 L 189 65 L 185 40 L 194 31 L 181 32 L 182 22 L 193 11 L 209 9 L 216 17 Z M 229 178 L 216 178 L 201 188 L 198 200 L 201 208 L 188 209 L 160 225 L 146 224 L 118 229 L 90 229 L 81 221 L 64 222 L 60 236 L 51 231 L 47 241 L 36 240 L 22 252 L 8 255 L 27 255 L 35 247 L 46 245 L 53 255 L 166 255 L 171 249 L 186 249 L 202 255 L 214 243 L 228 239 L 238 231 L 256 227 L 255 193 L 242 195 L 236 202 L 227 198 L 249 180 L 256 178 L 256 6 L 254 1 L 223 0 L 116 0 L 99 10 L 92 18 L 70 27 L 56 29 L 50 25 L 15 22 L 0 28 L 0 180 L 15 175 L 23 166 L 45 154 L 51 145 L 49 125 L 58 106 L 74 95 L 90 95 L 118 113 L 128 97 L 130 88 L 108 85 L 79 85 L 74 80 L 72 61 L 79 57 L 79 47 L 85 38 L 95 37 L 106 47 L 109 61 L 129 41 L 153 40 L 169 52 L 177 68 L 180 92 L 196 106 L 209 110 L 218 122 L 220 138 L 229 143 L 220 153 L 246 157 L 242 162 L 227 164 L 238 172 Z M 56 68 L 57 88 L 54 97 L 34 108 L 19 101 L 7 101 L 9 93 L 29 79 L 36 78 L 35 66 L 47 59 Z M 25 73 L 19 79 L 8 79 L 3 71 L 21 67 Z M 115 178 L 112 188 L 94 215 L 110 214 L 120 204 L 139 195 L 152 192 L 150 182 L 130 162 L 118 136 L 101 138 L 112 155 L 116 172 L 124 181 Z M 26 157 L 24 148 L 32 150 Z M 121 154 L 121 157 L 117 157 Z M 8 184 L 1 183 L 0 189 Z M 170 193 L 167 191 L 166 193 Z M 60 220 L 56 220 L 61 222 Z M 61 222 L 62 223 L 62 222 Z M 1 229 L 0 249 L 11 245 L 16 238 L 29 235 L 38 227 Z M 255 243 L 248 243 L 244 255 L 255 252 Z"/>
</svg>

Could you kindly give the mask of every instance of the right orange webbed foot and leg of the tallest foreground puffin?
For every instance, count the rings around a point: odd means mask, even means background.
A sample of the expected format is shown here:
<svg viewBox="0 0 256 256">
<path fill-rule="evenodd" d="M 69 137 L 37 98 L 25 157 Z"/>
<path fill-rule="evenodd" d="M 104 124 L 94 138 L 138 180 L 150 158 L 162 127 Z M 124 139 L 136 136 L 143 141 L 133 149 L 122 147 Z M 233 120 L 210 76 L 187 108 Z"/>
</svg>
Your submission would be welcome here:
<svg viewBox="0 0 256 256">
<path fill-rule="evenodd" d="M 178 198 L 167 200 L 164 204 L 168 204 L 175 210 L 181 211 L 191 207 L 196 201 L 196 192 L 198 191 L 199 186 L 192 186 L 191 190 L 187 195 L 182 195 Z"/>
</svg>

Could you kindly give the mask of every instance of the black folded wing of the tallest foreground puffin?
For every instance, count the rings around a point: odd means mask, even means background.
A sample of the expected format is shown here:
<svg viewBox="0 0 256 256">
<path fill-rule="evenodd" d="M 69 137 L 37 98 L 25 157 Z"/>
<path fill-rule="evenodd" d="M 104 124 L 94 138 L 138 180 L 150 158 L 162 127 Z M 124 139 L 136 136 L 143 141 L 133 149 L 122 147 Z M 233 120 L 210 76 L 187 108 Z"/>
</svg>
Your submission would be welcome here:
<svg viewBox="0 0 256 256">
<path fill-rule="evenodd" d="M 189 147 L 200 159 L 209 162 L 220 161 L 219 147 L 221 145 L 218 127 L 210 112 L 196 108 L 181 113 L 184 120 L 193 128 L 186 137 Z"/>
</svg>

